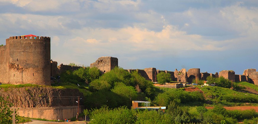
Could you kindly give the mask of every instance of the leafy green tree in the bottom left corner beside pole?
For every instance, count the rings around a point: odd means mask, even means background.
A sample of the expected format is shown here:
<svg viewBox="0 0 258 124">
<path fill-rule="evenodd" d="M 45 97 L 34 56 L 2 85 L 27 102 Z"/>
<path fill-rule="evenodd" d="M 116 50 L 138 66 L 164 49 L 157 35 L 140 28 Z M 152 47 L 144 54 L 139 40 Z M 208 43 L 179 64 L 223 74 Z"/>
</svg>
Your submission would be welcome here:
<svg viewBox="0 0 258 124">
<path fill-rule="evenodd" d="M 13 104 L 4 100 L 3 97 L 0 96 L 0 124 L 11 124 L 12 123 L 12 113 L 10 107 Z"/>
</svg>

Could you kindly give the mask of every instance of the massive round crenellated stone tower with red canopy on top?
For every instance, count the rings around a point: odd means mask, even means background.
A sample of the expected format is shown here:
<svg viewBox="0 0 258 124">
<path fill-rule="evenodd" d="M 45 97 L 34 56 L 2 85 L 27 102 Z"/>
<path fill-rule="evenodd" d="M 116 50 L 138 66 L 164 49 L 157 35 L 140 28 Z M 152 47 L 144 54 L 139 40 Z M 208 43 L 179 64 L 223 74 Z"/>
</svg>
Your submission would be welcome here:
<svg viewBox="0 0 258 124">
<path fill-rule="evenodd" d="M 3 83 L 50 85 L 50 37 L 10 37 L 4 52 Z"/>
</svg>

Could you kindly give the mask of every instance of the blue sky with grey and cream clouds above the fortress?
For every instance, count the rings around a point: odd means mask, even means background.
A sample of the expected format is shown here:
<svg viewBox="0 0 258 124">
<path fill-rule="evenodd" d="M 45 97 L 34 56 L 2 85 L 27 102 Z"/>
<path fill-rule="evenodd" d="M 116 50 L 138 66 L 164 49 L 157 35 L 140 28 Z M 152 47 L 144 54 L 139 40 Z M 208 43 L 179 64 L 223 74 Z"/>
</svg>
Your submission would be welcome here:
<svg viewBox="0 0 258 124">
<path fill-rule="evenodd" d="M 257 67 L 257 0 L 0 0 L 0 44 L 51 37 L 51 59 L 216 73 Z"/>
</svg>

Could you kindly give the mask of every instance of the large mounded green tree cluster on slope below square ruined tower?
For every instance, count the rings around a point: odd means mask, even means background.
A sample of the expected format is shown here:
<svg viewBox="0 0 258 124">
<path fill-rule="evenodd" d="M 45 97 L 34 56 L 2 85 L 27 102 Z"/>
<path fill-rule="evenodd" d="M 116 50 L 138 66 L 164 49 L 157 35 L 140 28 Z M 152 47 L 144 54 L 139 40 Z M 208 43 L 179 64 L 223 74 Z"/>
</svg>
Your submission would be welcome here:
<svg viewBox="0 0 258 124">
<path fill-rule="evenodd" d="M 130 107 L 133 100 L 153 98 L 155 92 L 151 81 L 137 72 L 129 73 L 120 67 L 115 67 L 89 83 L 89 90 L 92 94 L 86 96 L 85 102 L 88 108 L 100 108 L 102 105 L 108 105 L 111 108 Z"/>
</svg>

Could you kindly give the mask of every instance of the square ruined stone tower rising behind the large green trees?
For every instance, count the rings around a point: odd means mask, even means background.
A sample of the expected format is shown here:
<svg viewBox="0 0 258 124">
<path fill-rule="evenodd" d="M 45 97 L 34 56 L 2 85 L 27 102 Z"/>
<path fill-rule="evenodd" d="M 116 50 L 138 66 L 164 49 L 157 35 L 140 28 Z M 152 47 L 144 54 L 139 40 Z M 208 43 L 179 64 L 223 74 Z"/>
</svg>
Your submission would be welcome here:
<svg viewBox="0 0 258 124">
<path fill-rule="evenodd" d="M 118 59 L 115 57 L 100 57 L 90 64 L 90 67 L 97 67 L 103 73 L 109 72 L 116 66 L 118 66 Z"/>
</svg>

